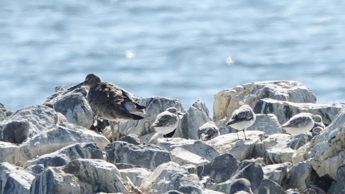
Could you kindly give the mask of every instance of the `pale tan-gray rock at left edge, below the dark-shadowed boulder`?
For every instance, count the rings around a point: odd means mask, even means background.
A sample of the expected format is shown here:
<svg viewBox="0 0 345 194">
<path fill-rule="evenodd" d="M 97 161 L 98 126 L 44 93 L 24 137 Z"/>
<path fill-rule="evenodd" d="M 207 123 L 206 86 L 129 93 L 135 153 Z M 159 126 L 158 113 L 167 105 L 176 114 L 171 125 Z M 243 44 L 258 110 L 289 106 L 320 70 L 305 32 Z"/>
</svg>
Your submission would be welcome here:
<svg viewBox="0 0 345 194">
<path fill-rule="evenodd" d="M 23 164 L 27 158 L 20 152 L 20 145 L 0 142 L 0 163 Z"/>
</svg>

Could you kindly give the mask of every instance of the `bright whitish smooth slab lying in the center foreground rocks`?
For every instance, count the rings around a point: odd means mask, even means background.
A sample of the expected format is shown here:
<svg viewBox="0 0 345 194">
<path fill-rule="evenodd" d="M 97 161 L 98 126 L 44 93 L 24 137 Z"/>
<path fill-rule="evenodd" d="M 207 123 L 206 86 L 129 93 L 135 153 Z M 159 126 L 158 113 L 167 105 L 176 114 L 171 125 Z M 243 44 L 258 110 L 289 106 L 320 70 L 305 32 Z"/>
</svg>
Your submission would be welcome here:
<svg viewBox="0 0 345 194">
<path fill-rule="evenodd" d="M 207 159 L 188 152 L 181 147 L 176 147 L 170 151 L 170 158 L 172 162 L 176 162 L 179 165 L 193 164 L 195 166 L 200 166 L 209 163 Z"/>
</svg>

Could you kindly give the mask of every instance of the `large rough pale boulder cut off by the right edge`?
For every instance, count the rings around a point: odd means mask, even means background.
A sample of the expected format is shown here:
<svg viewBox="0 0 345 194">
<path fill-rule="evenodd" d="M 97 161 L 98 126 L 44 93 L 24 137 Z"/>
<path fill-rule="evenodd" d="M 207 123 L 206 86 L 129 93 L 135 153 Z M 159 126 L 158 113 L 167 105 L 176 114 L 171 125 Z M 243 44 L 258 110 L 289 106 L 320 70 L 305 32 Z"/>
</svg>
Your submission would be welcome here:
<svg viewBox="0 0 345 194">
<path fill-rule="evenodd" d="M 313 169 L 322 176 L 337 180 L 337 169 L 343 165 L 345 158 L 345 109 L 342 110 L 321 134 L 309 143 L 310 156 L 315 156 Z M 308 154 L 309 155 L 309 154 Z"/>
</svg>

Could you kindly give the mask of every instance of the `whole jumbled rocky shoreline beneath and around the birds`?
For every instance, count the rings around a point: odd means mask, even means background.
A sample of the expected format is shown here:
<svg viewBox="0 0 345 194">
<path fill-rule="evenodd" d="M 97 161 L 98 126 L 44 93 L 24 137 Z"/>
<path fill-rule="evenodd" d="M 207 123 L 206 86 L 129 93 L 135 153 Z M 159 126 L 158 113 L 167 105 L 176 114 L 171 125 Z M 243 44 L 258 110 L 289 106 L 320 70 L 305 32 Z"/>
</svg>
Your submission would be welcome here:
<svg viewBox="0 0 345 194">
<path fill-rule="evenodd" d="M 0 103 L 0 192 L 46 193 L 233 193 L 238 178 L 255 194 L 345 193 L 345 104 L 318 103 L 298 81 L 263 81 L 215 95 L 213 116 L 203 100 L 184 109 L 177 99 L 140 98 L 145 118 L 92 131 L 93 113 L 83 88 L 56 88 L 47 98 L 55 110 L 32 105 L 17 111 Z M 250 105 L 256 122 L 238 140 L 231 113 Z M 150 125 L 168 107 L 185 113 L 167 142 Z M 56 112 L 69 123 L 57 123 Z M 295 114 L 321 115 L 320 134 L 285 134 L 280 124 Z M 220 136 L 197 140 L 198 128 L 215 121 Z M 106 125 L 104 125 L 106 126 Z M 101 132 L 100 132 L 101 130 Z M 239 133 L 241 135 L 241 133 Z"/>
</svg>

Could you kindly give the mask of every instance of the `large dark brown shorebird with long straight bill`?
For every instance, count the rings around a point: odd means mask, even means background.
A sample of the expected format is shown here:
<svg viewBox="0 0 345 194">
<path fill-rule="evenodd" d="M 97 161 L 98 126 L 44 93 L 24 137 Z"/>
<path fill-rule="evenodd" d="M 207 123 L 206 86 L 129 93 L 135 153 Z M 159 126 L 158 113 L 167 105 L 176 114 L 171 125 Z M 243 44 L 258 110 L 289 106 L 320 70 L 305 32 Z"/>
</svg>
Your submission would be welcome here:
<svg viewBox="0 0 345 194">
<path fill-rule="evenodd" d="M 137 114 L 145 114 L 145 106 L 141 106 L 134 101 L 126 90 L 112 83 L 102 82 L 101 78 L 96 74 L 87 75 L 85 81 L 69 88 L 67 91 L 72 91 L 81 86 L 89 88 L 87 100 L 96 117 L 118 122 L 116 140 L 119 139 L 120 135 L 119 122 L 126 122 L 131 119 L 140 120 L 144 118 Z M 114 142 L 114 125 L 112 122 L 109 123 L 112 141 Z"/>
</svg>

